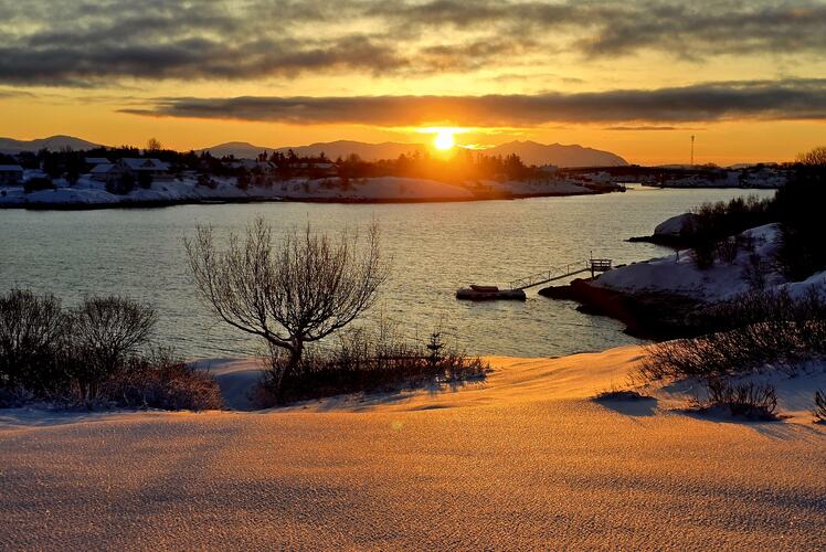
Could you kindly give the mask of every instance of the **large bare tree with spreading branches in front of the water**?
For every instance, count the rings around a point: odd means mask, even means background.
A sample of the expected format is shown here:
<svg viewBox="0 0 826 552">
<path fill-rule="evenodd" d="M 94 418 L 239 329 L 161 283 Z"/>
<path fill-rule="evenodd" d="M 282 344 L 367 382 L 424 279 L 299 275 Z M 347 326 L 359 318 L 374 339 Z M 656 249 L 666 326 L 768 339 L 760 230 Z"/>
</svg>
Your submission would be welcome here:
<svg viewBox="0 0 826 552">
<path fill-rule="evenodd" d="M 271 349 L 288 351 L 286 367 L 274 369 L 276 389 L 298 365 L 306 343 L 343 328 L 373 305 L 389 272 L 375 224 L 363 246 L 358 234 L 343 232 L 336 240 L 309 225 L 274 245 L 263 217 L 247 227 L 245 240 L 230 234 L 223 251 L 211 227 L 198 226 L 184 243 L 204 305 Z"/>
</svg>

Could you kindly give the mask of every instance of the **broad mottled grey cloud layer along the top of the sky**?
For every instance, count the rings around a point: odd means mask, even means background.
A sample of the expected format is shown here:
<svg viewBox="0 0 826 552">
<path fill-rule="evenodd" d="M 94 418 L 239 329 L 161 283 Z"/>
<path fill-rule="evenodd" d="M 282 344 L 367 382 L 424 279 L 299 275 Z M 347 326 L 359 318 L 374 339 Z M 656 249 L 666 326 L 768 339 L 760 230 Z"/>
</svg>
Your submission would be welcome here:
<svg viewBox="0 0 826 552">
<path fill-rule="evenodd" d="M 426 75 L 560 52 L 824 55 L 824 29 L 817 0 L 0 0 L 0 83 Z"/>
</svg>

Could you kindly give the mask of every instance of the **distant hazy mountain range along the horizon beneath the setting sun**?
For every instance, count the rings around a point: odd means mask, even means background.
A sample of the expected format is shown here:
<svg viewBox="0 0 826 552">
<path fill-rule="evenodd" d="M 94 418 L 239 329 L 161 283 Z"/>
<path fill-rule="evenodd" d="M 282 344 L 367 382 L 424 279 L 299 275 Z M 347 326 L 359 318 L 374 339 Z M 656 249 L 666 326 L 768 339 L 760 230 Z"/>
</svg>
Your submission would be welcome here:
<svg viewBox="0 0 826 552">
<path fill-rule="evenodd" d="M 72 148 L 83 150 L 98 145 L 72 136 L 52 136 L 36 140 L 15 140 L 0 138 L 0 152 L 17 153 L 20 151 L 38 151 L 40 149 L 60 150 Z M 317 142 L 309 146 L 293 148 L 268 148 L 247 142 L 232 141 L 197 150 L 209 151 L 213 156 L 234 156 L 236 158 L 255 158 L 258 153 L 273 151 L 287 152 L 293 150 L 298 156 L 317 156 L 324 152 L 330 159 L 347 157 L 356 153 L 364 160 L 395 159 L 402 153 L 415 151 L 425 152 L 430 147 L 425 144 L 383 142 L 367 144 L 351 140 Z M 558 167 L 618 167 L 628 164 L 622 157 L 610 151 L 585 148 L 579 145 L 539 144 L 536 141 L 511 141 L 483 150 L 487 155 L 508 156 L 518 155 L 527 164 L 555 164 Z"/>
</svg>

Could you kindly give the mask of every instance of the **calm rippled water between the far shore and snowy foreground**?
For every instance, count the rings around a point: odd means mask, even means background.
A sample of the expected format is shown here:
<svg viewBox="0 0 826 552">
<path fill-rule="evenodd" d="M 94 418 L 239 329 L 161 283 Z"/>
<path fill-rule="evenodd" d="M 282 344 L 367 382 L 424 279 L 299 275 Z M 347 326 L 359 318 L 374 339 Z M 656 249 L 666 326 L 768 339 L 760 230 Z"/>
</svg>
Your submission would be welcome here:
<svg viewBox="0 0 826 552">
<path fill-rule="evenodd" d="M 309 221 L 336 231 L 382 227 L 393 258 L 380 309 L 413 338 L 442 327 L 478 354 L 561 355 L 633 342 L 617 322 L 582 315 L 575 305 L 529 290 L 526 302 L 459 302 L 457 287 L 506 283 L 550 266 L 586 258 L 614 263 L 667 253 L 625 238 L 649 234 L 664 219 L 703 201 L 769 191 L 656 190 L 474 203 L 337 205 L 267 203 L 184 205 L 81 212 L 0 211 L 0 289 L 51 291 L 72 304 L 84 294 L 120 294 L 151 301 L 160 341 L 188 357 L 237 357 L 255 342 L 218 323 L 198 301 L 182 237 L 195 224 L 243 231 L 264 215 L 279 231 Z"/>
</svg>

